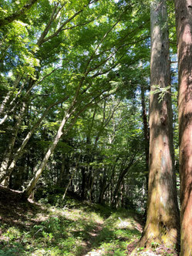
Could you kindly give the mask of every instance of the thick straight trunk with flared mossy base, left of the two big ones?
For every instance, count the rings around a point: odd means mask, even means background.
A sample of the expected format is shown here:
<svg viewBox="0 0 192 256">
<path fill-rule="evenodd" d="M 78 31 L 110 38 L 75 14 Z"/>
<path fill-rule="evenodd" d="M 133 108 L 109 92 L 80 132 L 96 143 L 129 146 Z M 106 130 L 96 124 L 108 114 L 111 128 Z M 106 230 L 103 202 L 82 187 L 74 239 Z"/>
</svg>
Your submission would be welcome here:
<svg viewBox="0 0 192 256">
<path fill-rule="evenodd" d="M 159 99 L 156 86 L 170 85 L 169 38 L 165 0 L 151 2 L 151 95 L 150 95 L 150 173 L 147 222 L 139 247 L 156 241 L 177 244 L 179 211 L 176 178 L 173 171 L 173 117 L 170 92 Z"/>
</svg>

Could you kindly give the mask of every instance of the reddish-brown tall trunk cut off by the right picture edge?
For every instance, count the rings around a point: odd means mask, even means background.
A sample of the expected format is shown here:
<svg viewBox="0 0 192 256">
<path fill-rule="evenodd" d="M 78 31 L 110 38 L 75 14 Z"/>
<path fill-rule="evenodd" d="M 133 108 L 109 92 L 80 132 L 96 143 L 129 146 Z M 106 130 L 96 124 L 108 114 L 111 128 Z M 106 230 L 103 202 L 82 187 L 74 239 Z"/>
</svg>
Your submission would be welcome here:
<svg viewBox="0 0 192 256">
<path fill-rule="evenodd" d="M 180 255 L 192 255 L 192 1 L 175 0 L 179 69 Z"/>
</svg>

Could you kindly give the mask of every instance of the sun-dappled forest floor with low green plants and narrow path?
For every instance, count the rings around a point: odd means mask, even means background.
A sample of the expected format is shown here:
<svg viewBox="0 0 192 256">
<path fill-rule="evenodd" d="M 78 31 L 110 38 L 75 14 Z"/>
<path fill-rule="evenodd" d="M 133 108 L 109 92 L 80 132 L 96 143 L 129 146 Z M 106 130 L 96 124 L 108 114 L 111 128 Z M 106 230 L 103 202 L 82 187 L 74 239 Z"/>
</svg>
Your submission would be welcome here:
<svg viewBox="0 0 192 256">
<path fill-rule="evenodd" d="M 142 232 L 133 211 L 114 211 L 67 197 L 64 204 L 23 202 L 19 192 L 0 186 L 0 256 L 130 255 Z M 59 196 L 54 195 L 55 201 Z M 171 251 L 138 255 L 177 255 Z"/>
</svg>

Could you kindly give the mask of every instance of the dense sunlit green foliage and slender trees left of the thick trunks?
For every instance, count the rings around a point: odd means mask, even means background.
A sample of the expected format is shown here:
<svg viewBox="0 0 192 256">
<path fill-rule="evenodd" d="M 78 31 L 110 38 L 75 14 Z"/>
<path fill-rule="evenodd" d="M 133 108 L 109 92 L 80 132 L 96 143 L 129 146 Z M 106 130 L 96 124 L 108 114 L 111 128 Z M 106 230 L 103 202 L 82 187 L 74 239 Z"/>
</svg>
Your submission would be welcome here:
<svg viewBox="0 0 192 256">
<path fill-rule="evenodd" d="M 37 187 L 143 211 L 149 6 L 25 5 L 1 4 L 1 181 L 22 190 L 46 158 Z"/>
</svg>

